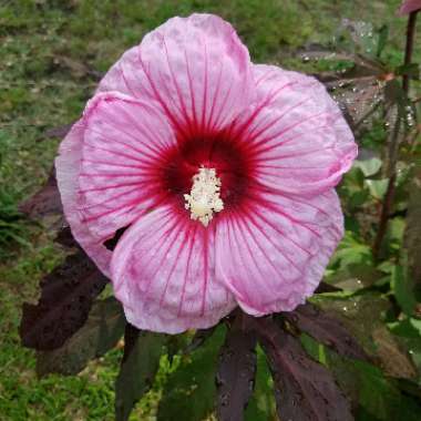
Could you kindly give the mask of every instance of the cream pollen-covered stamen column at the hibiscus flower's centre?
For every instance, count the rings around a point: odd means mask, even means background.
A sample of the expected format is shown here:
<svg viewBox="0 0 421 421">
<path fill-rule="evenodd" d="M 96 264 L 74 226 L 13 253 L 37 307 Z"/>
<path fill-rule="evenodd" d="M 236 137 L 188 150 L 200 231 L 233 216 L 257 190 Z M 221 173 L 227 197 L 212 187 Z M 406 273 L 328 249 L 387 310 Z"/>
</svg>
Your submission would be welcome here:
<svg viewBox="0 0 421 421">
<path fill-rule="evenodd" d="M 214 217 L 214 213 L 224 209 L 220 195 L 220 178 L 214 168 L 201 167 L 193 176 L 191 194 L 185 194 L 185 208 L 191 210 L 191 218 L 199 220 L 205 227 Z"/>
</svg>

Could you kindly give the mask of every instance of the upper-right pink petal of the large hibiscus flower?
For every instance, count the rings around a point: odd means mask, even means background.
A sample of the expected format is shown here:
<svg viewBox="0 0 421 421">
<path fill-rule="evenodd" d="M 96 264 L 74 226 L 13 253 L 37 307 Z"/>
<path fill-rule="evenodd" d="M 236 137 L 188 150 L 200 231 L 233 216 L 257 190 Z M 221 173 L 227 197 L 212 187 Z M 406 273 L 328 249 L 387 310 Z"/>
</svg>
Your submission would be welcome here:
<svg viewBox="0 0 421 421">
<path fill-rule="evenodd" d="M 283 193 L 333 187 L 357 155 L 339 107 L 314 78 L 273 65 L 254 66 L 257 102 L 236 122 L 257 181 Z"/>
</svg>

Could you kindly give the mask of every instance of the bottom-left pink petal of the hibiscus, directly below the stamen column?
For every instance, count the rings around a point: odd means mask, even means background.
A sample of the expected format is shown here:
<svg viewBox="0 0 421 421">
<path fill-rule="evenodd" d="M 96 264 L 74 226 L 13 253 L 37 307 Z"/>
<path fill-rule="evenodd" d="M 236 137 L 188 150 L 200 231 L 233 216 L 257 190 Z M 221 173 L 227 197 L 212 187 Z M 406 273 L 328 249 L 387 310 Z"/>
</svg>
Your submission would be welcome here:
<svg viewBox="0 0 421 421">
<path fill-rule="evenodd" d="M 141 217 L 114 250 L 115 296 L 140 329 L 178 333 L 214 326 L 235 307 L 215 279 L 215 230 L 163 205 Z"/>
</svg>

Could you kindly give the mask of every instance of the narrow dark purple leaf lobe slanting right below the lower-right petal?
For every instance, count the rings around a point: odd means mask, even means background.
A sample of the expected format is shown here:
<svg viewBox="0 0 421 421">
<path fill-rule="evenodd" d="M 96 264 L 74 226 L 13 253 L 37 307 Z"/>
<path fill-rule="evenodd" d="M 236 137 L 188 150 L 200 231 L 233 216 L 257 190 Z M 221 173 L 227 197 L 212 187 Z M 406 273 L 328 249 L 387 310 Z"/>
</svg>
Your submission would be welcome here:
<svg viewBox="0 0 421 421">
<path fill-rule="evenodd" d="M 348 332 L 342 322 L 307 302 L 283 316 L 299 330 L 331 347 L 339 355 L 368 361 L 369 358 L 357 340 Z"/>
</svg>

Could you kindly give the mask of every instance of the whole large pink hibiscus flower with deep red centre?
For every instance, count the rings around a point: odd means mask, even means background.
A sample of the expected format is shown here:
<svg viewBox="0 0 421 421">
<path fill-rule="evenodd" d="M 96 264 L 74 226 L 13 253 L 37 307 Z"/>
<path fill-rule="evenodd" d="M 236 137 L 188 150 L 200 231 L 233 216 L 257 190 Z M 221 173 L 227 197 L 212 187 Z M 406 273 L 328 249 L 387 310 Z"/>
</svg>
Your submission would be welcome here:
<svg viewBox="0 0 421 421">
<path fill-rule="evenodd" d="M 127 320 L 176 333 L 304 302 L 342 236 L 333 187 L 356 154 L 317 80 L 251 63 L 229 23 L 193 14 L 111 68 L 55 164 Z"/>
</svg>

